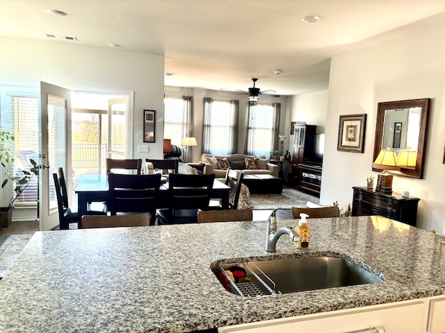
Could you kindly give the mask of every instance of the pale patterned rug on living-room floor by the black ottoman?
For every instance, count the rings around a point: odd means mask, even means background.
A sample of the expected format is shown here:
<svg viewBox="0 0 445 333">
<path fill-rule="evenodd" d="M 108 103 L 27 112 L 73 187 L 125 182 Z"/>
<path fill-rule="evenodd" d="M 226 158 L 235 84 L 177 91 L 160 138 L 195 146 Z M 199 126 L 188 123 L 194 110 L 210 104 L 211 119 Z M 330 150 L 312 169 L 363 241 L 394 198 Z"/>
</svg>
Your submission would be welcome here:
<svg viewBox="0 0 445 333">
<path fill-rule="evenodd" d="M 270 210 L 281 207 L 305 207 L 307 201 L 319 203 L 320 199 L 296 189 L 283 189 L 282 194 L 250 194 L 254 210 Z"/>
</svg>

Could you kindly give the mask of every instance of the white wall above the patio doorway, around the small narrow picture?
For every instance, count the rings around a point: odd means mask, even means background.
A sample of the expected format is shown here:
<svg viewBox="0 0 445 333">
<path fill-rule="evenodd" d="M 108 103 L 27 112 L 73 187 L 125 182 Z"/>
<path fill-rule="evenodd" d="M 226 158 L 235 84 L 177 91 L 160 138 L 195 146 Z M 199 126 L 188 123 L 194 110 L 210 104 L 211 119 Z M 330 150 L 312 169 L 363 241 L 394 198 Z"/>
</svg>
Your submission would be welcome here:
<svg viewBox="0 0 445 333">
<path fill-rule="evenodd" d="M 156 144 L 150 155 L 162 156 L 164 57 L 118 49 L 0 37 L 0 79 L 92 92 L 134 92 L 133 157 L 143 144 L 143 110 L 156 110 Z"/>
</svg>

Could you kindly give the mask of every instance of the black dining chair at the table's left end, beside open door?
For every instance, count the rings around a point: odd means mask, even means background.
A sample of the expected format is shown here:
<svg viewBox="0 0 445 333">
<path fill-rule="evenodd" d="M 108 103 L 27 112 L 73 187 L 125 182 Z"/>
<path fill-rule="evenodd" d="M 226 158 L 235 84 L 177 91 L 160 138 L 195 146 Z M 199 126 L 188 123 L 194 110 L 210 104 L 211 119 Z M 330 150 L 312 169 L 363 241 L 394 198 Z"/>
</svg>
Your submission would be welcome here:
<svg viewBox="0 0 445 333">
<path fill-rule="evenodd" d="M 53 173 L 54 188 L 56 191 L 57 206 L 58 206 L 58 221 L 60 230 L 69 229 L 70 223 L 78 223 L 77 206 L 68 205 L 68 193 L 67 185 L 65 182 L 65 176 L 63 175 L 63 169 L 58 168 Z M 90 215 L 106 215 L 108 209 L 106 205 L 102 203 L 88 203 L 87 213 Z"/>
</svg>

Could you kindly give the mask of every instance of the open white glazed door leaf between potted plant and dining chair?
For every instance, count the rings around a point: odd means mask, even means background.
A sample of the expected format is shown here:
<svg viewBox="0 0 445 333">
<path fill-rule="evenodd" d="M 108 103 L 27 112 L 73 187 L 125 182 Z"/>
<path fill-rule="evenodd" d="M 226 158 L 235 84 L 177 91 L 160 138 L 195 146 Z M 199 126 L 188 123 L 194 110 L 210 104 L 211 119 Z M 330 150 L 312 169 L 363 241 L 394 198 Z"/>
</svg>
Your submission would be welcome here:
<svg viewBox="0 0 445 333">
<path fill-rule="evenodd" d="M 63 168 L 68 193 L 71 191 L 71 153 L 67 150 L 71 137 L 67 126 L 71 123 L 71 91 L 40 82 L 39 96 L 39 229 L 51 230 L 59 224 L 53 178 L 59 167 Z"/>
</svg>

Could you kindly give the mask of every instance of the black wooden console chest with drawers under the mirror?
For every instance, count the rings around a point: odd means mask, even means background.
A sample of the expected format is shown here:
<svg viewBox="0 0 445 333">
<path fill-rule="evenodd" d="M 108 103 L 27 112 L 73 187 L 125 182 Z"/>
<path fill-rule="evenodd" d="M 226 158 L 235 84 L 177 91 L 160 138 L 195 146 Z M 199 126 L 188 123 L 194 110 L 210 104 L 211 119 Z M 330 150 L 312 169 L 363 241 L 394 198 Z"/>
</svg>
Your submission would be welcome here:
<svg viewBox="0 0 445 333">
<path fill-rule="evenodd" d="M 400 193 L 388 194 L 367 187 L 353 189 L 353 216 L 381 215 L 416 226 L 419 198 L 403 198 Z"/>
</svg>

